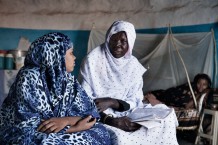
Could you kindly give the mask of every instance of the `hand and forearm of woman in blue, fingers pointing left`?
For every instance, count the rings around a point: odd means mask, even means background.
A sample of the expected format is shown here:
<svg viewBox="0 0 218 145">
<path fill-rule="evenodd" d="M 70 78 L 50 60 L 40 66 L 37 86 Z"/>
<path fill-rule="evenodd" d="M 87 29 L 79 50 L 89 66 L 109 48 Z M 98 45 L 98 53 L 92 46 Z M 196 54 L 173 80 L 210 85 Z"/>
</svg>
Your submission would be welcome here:
<svg viewBox="0 0 218 145">
<path fill-rule="evenodd" d="M 48 120 L 42 120 L 42 123 L 38 127 L 39 132 L 44 133 L 56 133 L 62 130 L 67 125 L 75 125 L 81 117 L 59 117 L 50 118 Z"/>
</svg>

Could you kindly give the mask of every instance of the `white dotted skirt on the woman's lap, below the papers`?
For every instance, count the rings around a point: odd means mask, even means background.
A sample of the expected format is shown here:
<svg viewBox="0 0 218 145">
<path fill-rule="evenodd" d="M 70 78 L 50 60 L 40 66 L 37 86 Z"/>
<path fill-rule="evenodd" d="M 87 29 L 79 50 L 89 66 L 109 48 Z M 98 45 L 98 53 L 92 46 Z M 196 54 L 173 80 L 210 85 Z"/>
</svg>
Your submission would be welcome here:
<svg viewBox="0 0 218 145">
<path fill-rule="evenodd" d="M 164 104 L 156 105 L 155 107 L 167 107 Z M 140 144 L 140 145 L 178 145 L 176 138 L 177 119 L 175 112 L 170 113 L 161 126 L 147 129 L 141 127 L 134 132 L 126 132 L 121 129 L 105 125 L 107 128 L 113 145 L 127 145 L 127 144 Z"/>
</svg>

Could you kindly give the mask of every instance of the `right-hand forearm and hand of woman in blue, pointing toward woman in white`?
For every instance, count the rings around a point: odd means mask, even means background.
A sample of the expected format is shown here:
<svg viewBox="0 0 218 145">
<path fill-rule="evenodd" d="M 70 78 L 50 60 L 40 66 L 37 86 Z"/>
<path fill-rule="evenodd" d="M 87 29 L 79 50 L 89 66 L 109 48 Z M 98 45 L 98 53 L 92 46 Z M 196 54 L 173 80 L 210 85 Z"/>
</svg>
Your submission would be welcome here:
<svg viewBox="0 0 218 145">
<path fill-rule="evenodd" d="M 71 126 L 66 133 L 72 133 L 72 132 L 79 132 L 83 130 L 90 129 L 95 123 L 96 119 L 91 120 L 92 116 L 88 116 L 80 121 L 77 122 L 74 126 Z"/>
</svg>

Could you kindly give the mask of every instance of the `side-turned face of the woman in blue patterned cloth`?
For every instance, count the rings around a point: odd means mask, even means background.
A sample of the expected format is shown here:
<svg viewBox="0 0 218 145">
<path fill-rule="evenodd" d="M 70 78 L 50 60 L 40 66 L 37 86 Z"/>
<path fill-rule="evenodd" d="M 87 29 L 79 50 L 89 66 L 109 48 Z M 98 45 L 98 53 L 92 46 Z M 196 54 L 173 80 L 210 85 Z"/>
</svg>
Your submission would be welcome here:
<svg viewBox="0 0 218 145">
<path fill-rule="evenodd" d="M 73 55 L 73 48 L 66 51 L 65 64 L 68 73 L 72 72 L 75 66 L 76 57 Z"/>
</svg>

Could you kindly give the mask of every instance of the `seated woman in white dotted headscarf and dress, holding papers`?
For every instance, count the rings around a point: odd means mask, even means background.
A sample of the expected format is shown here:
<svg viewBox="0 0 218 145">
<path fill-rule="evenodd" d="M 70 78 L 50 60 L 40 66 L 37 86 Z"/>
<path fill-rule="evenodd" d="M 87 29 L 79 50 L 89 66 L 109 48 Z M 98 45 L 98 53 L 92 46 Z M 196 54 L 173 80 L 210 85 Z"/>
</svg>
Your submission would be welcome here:
<svg viewBox="0 0 218 145">
<path fill-rule="evenodd" d="M 115 21 L 107 31 L 105 43 L 84 59 L 81 84 L 95 100 L 114 145 L 178 144 L 175 122 L 170 123 L 172 127 L 163 125 L 147 130 L 127 117 L 130 110 L 142 106 L 142 76 L 146 71 L 132 55 L 135 39 L 133 24 Z M 170 133 L 165 133 L 165 127 L 171 127 Z"/>
</svg>

